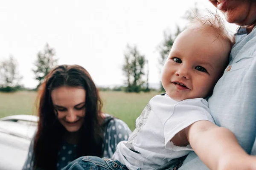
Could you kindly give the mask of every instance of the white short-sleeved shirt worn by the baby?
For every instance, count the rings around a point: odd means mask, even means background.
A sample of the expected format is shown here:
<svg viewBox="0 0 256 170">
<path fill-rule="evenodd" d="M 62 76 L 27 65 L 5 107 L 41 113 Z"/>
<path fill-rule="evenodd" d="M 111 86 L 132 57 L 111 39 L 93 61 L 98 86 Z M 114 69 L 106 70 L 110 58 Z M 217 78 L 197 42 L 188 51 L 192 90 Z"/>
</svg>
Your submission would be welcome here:
<svg viewBox="0 0 256 170">
<path fill-rule="evenodd" d="M 185 156 L 192 148 L 175 146 L 170 140 L 185 127 L 199 120 L 214 122 L 205 99 L 177 102 L 169 96 L 154 96 L 136 120 L 128 141 L 119 142 L 113 160 L 129 170 L 153 170 L 172 159 Z"/>
</svg>

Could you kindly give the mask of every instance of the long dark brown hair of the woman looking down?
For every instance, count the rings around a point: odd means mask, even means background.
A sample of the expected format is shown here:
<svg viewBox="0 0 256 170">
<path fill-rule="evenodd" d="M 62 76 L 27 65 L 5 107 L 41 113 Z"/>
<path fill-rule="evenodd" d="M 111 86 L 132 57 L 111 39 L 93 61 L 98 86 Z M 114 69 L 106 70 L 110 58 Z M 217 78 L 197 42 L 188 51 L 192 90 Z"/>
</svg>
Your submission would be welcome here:
<svg viewBox="0 0 256 170">
<path fill-rule="evenodd" d="M 58 150 L 65 128 L 54 112 L 51 91 L 59 87 L 78 87 L 86 91 L 84 123 L 79 130 L 77 158 L 102 156 L 102 101 L 90 74 L 79 65 L 59 65 L 45 78 L 38 92 L 38 131 L 34 140 L 34 168 L 56 169 Z"/>
</svg>

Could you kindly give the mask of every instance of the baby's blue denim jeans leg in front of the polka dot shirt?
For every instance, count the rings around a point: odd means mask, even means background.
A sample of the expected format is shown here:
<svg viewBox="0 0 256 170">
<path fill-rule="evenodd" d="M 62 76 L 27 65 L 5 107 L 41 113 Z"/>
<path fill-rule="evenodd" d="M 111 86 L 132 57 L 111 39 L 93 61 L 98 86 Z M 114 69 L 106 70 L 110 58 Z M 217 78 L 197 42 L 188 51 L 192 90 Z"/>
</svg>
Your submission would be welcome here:
<svg viewBox="0 0 256 170">
<path fill-rule="evenodd" d="M 128 170 L 128 168 L 119 161 L 96 156 L 82 156 L 62 170 Z"/>
</svg>

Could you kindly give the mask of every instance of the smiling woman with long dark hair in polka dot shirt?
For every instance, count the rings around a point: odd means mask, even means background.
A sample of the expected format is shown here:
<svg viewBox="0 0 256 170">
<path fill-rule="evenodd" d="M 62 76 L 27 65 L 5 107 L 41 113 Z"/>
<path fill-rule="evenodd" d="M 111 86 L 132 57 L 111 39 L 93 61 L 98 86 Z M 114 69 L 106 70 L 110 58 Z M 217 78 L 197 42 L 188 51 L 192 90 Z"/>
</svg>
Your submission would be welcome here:
<svg viewBox="0 0 256 170">
<path fill-rule="evenodd" d="M 124 122 L 102 113 L 98 90 L 79 65 L 50 71 L 38 100 L 38 131 L 23 170 L 60 170 L 86 155 L 111 157 L 131 133 Z"/>
</svg>

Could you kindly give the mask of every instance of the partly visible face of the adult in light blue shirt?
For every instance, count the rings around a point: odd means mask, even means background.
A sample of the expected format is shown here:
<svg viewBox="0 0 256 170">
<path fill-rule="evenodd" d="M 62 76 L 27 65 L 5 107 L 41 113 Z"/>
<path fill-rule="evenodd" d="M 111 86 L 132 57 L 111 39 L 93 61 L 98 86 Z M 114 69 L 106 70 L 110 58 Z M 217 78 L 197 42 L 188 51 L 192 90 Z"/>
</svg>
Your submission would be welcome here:
<svg viewBox="0 0 256 170">
<path fill-rule="evenodd" d="M 256 0 L 209 0 L 229 23 L 251 26 L 256 23 Z"/>
</svg>

